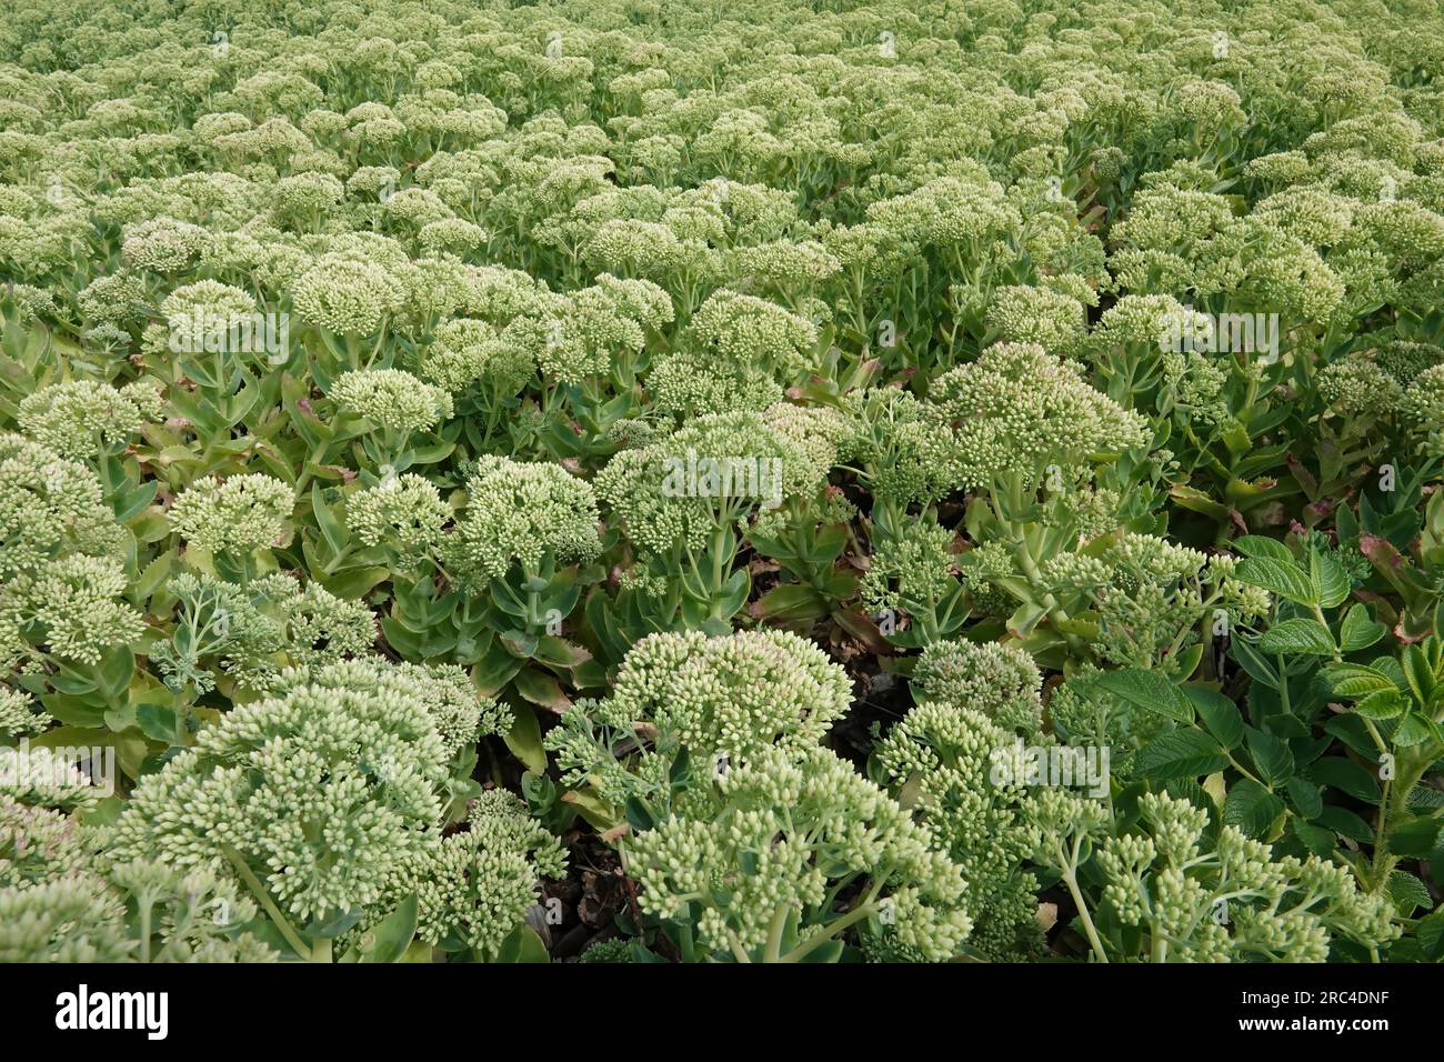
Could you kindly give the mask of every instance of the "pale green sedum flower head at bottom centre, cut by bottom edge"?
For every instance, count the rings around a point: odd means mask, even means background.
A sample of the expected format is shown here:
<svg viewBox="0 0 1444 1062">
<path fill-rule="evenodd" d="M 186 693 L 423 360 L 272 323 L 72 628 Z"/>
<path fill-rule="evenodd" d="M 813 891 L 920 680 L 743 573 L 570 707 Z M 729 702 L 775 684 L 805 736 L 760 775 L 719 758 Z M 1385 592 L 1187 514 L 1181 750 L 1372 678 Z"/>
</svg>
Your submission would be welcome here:
<svg viewBox="0 0 1444 1062">
<path fill-rule="evenodd" d="M 832 753 L 760 753 L 716 779 L 697 812 L 627 844 L 643 910 L 677 923 L 684 959 L 836 959 L 871 923 L 923 959 L 972 928 L 962 874 L 885 793 Z M 862 881 L 846 910 L 836 897 Z"/>
</svg>

